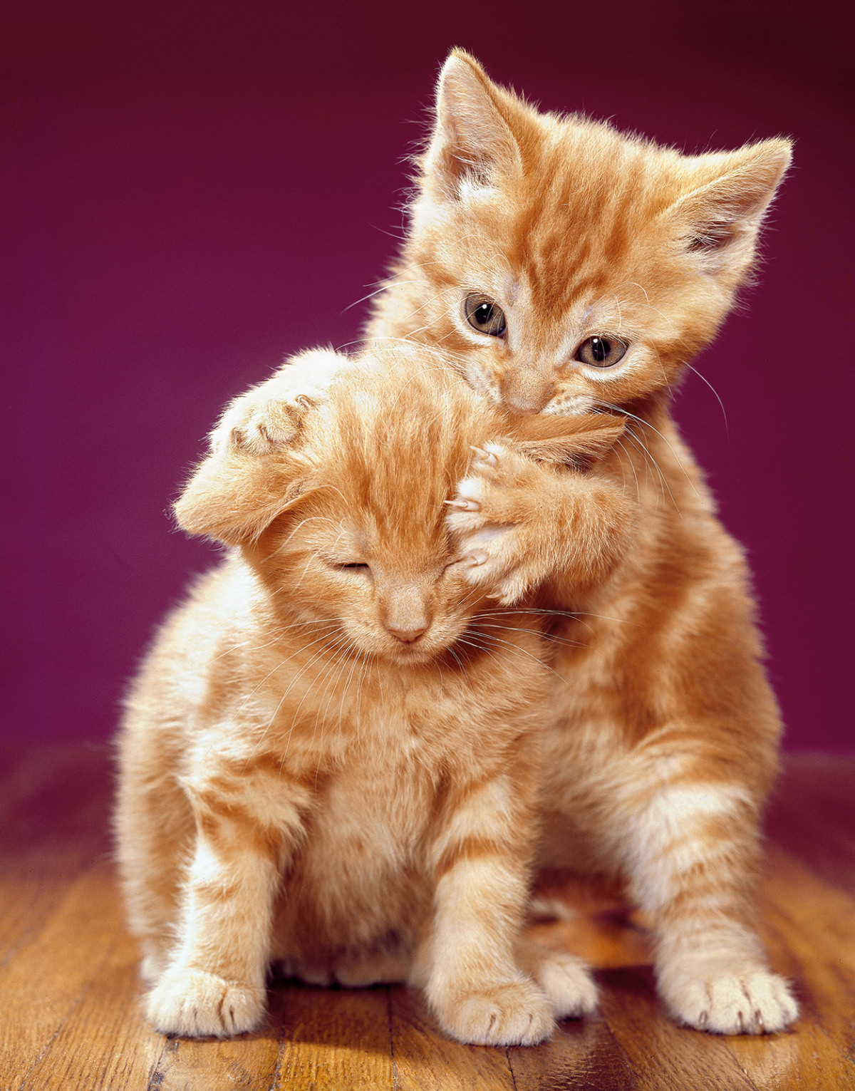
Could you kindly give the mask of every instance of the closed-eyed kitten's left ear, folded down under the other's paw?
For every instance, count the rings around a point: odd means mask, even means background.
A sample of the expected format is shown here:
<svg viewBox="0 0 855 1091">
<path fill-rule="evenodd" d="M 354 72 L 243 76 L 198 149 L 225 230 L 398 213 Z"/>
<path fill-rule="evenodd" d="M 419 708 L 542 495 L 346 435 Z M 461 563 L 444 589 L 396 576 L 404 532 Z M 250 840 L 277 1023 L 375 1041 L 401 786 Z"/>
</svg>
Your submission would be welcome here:
<svg viewBox="0 0 855 1091">
<path fill-rule="evenodd" d="M 243 546 L 304 493 L 300 469 L 287 457 L 214 453 L 196 467 L 172 511 L 190 535 Z"/>
</svg>

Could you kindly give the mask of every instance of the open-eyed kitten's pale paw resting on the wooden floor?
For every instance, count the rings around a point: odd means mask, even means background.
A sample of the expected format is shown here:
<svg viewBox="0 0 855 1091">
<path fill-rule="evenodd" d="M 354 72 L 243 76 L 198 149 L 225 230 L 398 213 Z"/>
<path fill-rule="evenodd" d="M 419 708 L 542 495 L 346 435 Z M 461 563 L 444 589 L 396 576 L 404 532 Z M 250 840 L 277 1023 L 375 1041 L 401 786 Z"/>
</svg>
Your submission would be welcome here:
<svg viewBox="0 0 855 1091">
<path fill-rule="evenodd" d="M 679 1022 L 714 1034 L 771 1034 L 798 1017 L 786 982 L 764 968 L 700 967 L 660 981 L 660 992 Z"/>
</svg>

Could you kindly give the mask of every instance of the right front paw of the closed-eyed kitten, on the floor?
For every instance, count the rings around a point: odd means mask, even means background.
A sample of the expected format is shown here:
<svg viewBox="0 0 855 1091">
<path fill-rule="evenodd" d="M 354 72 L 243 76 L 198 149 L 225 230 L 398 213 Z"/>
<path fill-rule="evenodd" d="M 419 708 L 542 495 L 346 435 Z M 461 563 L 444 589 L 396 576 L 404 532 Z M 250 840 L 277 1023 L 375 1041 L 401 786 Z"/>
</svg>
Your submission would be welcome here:
<svg viewBox="0 0 855 1091">
<path fill-rule="evenodd" d="M 467 1045 L 537 1045 L 555 1027 L 546 997 L 528 980 L 434 998 L 433 1008 L 445 1033 Z"/>
</svg>

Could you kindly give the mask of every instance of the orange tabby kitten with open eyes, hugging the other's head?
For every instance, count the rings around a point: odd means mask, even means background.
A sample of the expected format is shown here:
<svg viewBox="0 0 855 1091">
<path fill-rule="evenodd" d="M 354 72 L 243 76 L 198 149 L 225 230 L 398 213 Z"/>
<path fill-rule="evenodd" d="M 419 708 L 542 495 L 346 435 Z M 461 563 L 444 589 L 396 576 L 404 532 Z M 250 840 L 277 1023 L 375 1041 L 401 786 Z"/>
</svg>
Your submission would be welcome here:
<svg viewBox="0 0 855 1091">
<path fill-rule="evenodd" d="M 743 553 L 670 403 L 750 273 L 790 158 L 786 140 L 685 156 L 541 113 L 455 50 L 368 331 L 442 346 L 491 404 L 627 421 L 598 488 L 631 495 L 638 521 L 605 587 L 578 578 L 569 476 L 541 503 L 529 467 L 495 448 L 461 482 L 453 521 L 481 562 L 474 587 L 505 603 L 537 588 L 567 611 L 541 862 L 623 880 L 654 922 L 671 1012 L 722 1033 L 797 1014 L 754 923 L 781 726 Z"/>
</svg>

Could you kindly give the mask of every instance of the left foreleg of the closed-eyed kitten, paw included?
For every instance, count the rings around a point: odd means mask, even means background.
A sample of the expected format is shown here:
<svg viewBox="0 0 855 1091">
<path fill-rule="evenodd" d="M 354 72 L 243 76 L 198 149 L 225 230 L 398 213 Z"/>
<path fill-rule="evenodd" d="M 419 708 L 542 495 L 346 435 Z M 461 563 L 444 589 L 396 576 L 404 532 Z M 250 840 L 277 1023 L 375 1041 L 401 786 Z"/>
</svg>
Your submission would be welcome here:
<svg viewBox="0 0 855 1091">
<path fill-rule="evenodd" d="M 196 841 L 179 940 L 147 1012 L 165 1034 L 227 1038 L 255 1028 L 264 1012 L 281 834 L 239 799 L 192 791 L 191 800 Z"/>
</svg>

